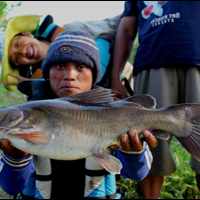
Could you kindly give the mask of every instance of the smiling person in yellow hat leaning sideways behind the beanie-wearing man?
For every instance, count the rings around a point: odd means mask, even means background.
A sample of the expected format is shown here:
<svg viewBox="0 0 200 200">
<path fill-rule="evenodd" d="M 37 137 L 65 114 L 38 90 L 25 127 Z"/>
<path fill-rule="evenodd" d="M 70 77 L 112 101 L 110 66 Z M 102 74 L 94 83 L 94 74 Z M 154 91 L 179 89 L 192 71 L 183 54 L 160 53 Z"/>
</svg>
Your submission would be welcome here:
<svg viewBox="0 0 200 200">
<path fill-rule="evenodd" d="M 3 55 L 3 83 L 6 89 L 16 90 L 19 81 L 42 78 L 41 63 L 49 44 L 58 33 L 66 29 L 86 30 L 93 35 L 100 51 L 102 76 L 110 58 L 110 46 L 114 38 L 119 16 L 87 22 L 74 21 L 60 27 L 47 15 L 41 24 L 40 16 L 24 15 L 11 18 L 8 22 Z M 103 70 L 105 68 L 105 70 Z M 100 80 L 99 80 L 100 81 Z"/>
</svg>

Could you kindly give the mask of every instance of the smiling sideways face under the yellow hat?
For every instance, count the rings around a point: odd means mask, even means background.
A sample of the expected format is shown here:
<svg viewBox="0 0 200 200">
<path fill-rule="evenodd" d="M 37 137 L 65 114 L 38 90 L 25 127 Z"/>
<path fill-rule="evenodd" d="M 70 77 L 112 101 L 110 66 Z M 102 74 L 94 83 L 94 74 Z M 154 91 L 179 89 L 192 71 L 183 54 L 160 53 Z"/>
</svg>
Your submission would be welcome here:
<svg viewBox="0 0 200 200">
<path fill-rule="evenodd" d="M 8 58 L 14 65 L 31 65 L 42 61 L 46 51 L 41 41 L 32 34 L 23 32 L 16 35 L 9 44 Z"/>
</svg>

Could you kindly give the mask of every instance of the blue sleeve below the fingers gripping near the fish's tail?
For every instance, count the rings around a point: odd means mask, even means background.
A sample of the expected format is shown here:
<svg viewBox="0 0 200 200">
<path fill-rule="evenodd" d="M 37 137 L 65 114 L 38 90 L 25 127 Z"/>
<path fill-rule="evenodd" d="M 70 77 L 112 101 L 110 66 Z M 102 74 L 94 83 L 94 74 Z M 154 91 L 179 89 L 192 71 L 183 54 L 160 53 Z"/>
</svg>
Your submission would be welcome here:
<svg viewBox="0 0 200 200">
<path fill-rule="evenodd" d="M 146 143 L 144 143 L 143 151 L 139 154 L 134 151 L 125 153 L 118 150 L 117 157 L 123 165 L 121 175 L 135 181 L 141 181 L 148 175 L 153 160 Z"/>
</svg>

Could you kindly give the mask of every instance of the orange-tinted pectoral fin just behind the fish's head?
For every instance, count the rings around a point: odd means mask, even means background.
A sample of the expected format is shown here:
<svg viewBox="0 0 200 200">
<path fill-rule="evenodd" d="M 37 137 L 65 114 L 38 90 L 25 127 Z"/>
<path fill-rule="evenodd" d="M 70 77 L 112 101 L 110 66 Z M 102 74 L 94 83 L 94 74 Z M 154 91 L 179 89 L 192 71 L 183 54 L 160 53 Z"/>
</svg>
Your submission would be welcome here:
<svg viewBox="0 0 200 200">
<path fill-rule="evenodd" d="M 9 132 L 11 135 L 16 135 L 24 140 L 28 140 L 33 144 L 50 144 L 54 135 L 48 134 L 47 131 L 31 131 L 31 132 Z"/>
</svg>

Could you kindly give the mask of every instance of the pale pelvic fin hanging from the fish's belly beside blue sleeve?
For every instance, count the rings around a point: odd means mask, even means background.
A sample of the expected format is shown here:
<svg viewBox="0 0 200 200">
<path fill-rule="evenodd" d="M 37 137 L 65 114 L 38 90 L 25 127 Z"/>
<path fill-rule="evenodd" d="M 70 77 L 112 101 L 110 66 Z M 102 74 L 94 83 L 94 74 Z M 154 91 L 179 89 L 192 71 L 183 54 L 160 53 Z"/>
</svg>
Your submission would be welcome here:
<svg viewBox="0 0 200 200">
<path fill-rule="evenodd" d="M 92 157 L 111 174 L 120 174 L 122 164 L 120 160 L 106 153 L 95 151 Z"/>
</svg>

